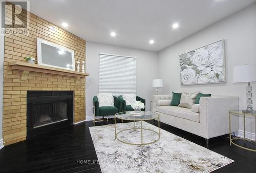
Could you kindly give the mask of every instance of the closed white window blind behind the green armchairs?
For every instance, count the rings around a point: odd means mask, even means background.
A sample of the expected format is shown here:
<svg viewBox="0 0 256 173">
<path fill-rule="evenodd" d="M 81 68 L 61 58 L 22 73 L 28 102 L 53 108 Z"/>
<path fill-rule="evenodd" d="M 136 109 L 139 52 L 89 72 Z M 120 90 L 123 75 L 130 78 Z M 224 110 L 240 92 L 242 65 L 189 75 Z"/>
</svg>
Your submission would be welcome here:
<svg viewBox="0 0 256 173">
<path fill-rule="evenodd" d="M 136 58 L 99 54 L 99 93 L 136 94 Z"/>
</svg>

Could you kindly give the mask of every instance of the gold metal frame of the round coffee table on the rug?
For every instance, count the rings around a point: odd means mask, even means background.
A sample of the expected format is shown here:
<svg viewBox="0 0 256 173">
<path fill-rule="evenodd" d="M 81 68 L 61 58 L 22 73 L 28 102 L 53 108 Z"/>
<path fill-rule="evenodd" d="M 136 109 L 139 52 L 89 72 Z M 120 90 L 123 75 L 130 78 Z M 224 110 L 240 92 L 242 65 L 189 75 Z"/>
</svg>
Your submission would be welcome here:
<svg viewBox="0 0 256 173">
<path fill-rule="evenodd" d="M 132 111 L 129 111 L 129 112 L 132 112 Z M 118 141 L 122 142 L 122 143 L 125 143 L 125 144 L 130 144 L 130 145 L 140 145 L 141 147 L 143 147 L 143 145 L 149 145 L 149 144 L 152 144 L 152 143 L 155 143 L 157 142 L 159 139 L 160 139 L 160 121 L 159 121 L 159 114 L 157 113 L 151 113 L 151 114 L 148 114 L 148 113 L 145 113 L 144 114 L 147 114 L 148 116 L 152 115 L 152 114 L 155 114 L 156 116 L 152 116 L 152 117 L 145 117 L 143 118 L 145 115 L 142 115 L 141 117 L 139 116 L 127 116 L 127 118 L 123 118 L 123 117 L 118 117 L 118 115 L 126 115 L 126 114 L 129 114 L 129 112 L 120 112 L 120 113 L 117 113 L 115 114 L 115 139 L 117 139 Z M 121 122 L 123 122 L 123 120 L 128 120 L 128 121 L 134 121 L 134 127 L 133 128 L 127 128 L 127 129 L 123 129 L 122 131 L 119 131 L 118 133 L 116 133 L 116 118 L 120 119 Z M 146 121 L 146 120 L 158 120 L 158 132 L 156 131 L 153 131 L 152 129 L 148 129 L 148 128 L 143 128 L 143 121 Z M 136 121 L 141 121 L 141 127 L 140 128 L 137 128 L 136 127 Z M 136 130 L 136 129 L 140 129 L 141 130 L 141 143 L 131 143 L 131 142 L 126 142 L 126 141 L 123 141 L 121 139 L 119 139 L 117 137 L 117 135 L 119 133 L 122 133 L 124 131 L 131 131 L 131 130 Z M 158 139 L 152 141 L 152 142 L 147 142 L 147 143 L 143 143 L 143 130 L 144 131 L 151 131 L 151 132 L 154 132 L 158 135 Z"/>
</svg>

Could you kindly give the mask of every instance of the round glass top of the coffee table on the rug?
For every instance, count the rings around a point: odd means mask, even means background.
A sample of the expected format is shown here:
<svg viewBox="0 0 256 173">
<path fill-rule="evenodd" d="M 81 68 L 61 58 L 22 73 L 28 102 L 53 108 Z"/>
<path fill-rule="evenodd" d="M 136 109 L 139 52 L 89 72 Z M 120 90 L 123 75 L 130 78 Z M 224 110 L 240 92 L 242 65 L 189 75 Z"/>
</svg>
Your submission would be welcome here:
<svg viewBox="0 0 256 173">
<path fill-rule="evenodd" d="M 153 120 L 159 117 L 159 114 L 155 112 L 144 112 L 141 111 L 141 115 L 133 115 L 133 111 L 128 112 L 119 112 L 115 114 L 115 117 L 122 120 L 131 120 L 131 121 L 144 121 L 144 120 Z"/>
</svg>

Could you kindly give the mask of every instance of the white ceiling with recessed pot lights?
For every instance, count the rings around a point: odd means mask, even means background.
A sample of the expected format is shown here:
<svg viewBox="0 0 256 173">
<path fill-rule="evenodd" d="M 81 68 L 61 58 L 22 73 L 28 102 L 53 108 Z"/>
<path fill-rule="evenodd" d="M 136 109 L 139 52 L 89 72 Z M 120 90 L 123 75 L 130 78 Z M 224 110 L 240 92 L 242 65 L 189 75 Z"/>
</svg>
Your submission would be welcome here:
<svg viewBox="0 0 256 173">
<path fill-rule="evenodd" d="M 161 49 L 256 0 L 31 0 L 30 11 L 93 42 Z M 179 23 L 173 29 L 173 23 Z M 115 31 L 116 37 L 110 32 Z M 155 40 L 154 45 L 148 41 Z"/>
</svg>

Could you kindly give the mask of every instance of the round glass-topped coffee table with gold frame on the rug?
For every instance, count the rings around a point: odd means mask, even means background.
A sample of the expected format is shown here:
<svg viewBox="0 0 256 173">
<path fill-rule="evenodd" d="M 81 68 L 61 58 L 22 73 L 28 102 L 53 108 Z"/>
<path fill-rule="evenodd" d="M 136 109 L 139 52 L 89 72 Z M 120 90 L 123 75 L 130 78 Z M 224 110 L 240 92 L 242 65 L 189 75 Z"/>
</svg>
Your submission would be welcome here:
<svg viewBox="0 0 256 173">
<path fill-rule="evenodd" d="M 134 121 L 134 127 L 133 128 L 127 128 L 127 129 L 123 129 L 122 131 L 117 132 L 117 128 L 116 128 L 116 118 L 120 119 L 121 122 L 123 122 L 123 120 L 129 120 L 129 121 Z M 158 132 L 153 131 L 152 129 L 148 129 L 148 128 L 143 128 L 143 121 L 145 120 L 158 120 Z M 141 122 L 141 126 L 140 127 L 136 127 L 136 121 L 140 121 Z M 131 142 L 127 142 L 127 141 L 123 141 L 121 139 L 119 139 L 117 137 L 118 134 L 124 132 L 124 131 L 132 131 L 132 130 L 136 130 L 139 129 L 141 131 L 141 142 L 140 143 L 131 143 Z M 143 143 L 143 131 L 150 131 L 155 133 L 158 138 L 156 140 L 153 140 L 152 142 L 147 142 L 147 143 Z M 160 139 L 160 121 L 159 121 L 159 114 L 155 113 L 155 112 L 141 112 L 141 115 L 132 115 L 132 111 L 129 112 L 119 112 L 117 114 L 115 114 L 115 139 L 117 139 L 120 142 L 126 143 L 126 144 L 131 144 L 131 145 L 140 145 L 143 147 L 143 145 L 148 145 L 148 144 L 152 144 L 157 142 Z"/>
</svg>

